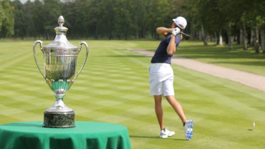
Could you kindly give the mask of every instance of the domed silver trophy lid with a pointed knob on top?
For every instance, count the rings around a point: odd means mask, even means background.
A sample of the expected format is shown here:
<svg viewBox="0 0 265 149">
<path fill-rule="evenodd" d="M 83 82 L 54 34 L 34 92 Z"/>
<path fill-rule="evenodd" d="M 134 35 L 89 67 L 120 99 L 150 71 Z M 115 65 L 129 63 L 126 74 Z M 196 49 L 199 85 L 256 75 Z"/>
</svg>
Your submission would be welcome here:
<svg viewBox="0 0 265 149">
<path fill-rule="evenodd" d="M 58 48 L 58 49 L 77 49 L 77 46 L 72 45 L 66 38 L 66 31 L 68 28 L 62 26 L 64 24 L 64 19 L 62 16 L 58 18 L 59 26 L 55 27 L 56 32 L 55 39 L 49 45 L 46 45 L 45 48 Z"/>
</svg>

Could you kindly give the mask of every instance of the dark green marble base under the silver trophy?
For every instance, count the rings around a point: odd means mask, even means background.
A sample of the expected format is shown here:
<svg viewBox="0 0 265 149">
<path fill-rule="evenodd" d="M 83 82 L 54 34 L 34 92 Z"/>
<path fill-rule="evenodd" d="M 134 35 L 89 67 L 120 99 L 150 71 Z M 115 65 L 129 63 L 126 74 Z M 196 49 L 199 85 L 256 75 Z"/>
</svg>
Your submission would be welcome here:
<svg viewBox="0 0 265 149">
<path fill-rule="evenodd" d="M 73 128 L 74 111 L 71 112 L 44 112 L 43 127 L 48 128 Z"/>
</svg>

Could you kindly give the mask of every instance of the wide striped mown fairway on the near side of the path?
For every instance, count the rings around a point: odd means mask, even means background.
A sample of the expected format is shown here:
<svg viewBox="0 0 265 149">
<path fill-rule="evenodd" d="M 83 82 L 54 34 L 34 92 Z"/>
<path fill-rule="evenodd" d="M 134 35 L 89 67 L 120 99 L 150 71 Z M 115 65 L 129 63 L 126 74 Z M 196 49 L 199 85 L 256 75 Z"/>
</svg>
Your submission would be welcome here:
<svg viewBox="0 0 265 149">
<path fill-rule="evenodd" d="M 44 110 L 54 102 L 53 92 L 34 62 L 33 43 L 0 41 L 0 124 L 42 121 Z M 78 41 L 71 43 L 78 45 Z M 87 43 L 88 61 L 64 98 L 65 104 L 75 110 L 76 121 L 125 125 L 133 149 L 265 148 L 265 92 L 172 65 L 176 98 L 187 118 L 194 120 L 194 137 L 184 140 L 181 121 L 163 100 L 165 125 L 176 135 L 159 139 L 154 101 L 149 96 L 151 58 L 125 50 L 155 49 L 159 41 Z M 184 47 L 188 49 L 188 43 L 184 42 Z"/>
</svg>

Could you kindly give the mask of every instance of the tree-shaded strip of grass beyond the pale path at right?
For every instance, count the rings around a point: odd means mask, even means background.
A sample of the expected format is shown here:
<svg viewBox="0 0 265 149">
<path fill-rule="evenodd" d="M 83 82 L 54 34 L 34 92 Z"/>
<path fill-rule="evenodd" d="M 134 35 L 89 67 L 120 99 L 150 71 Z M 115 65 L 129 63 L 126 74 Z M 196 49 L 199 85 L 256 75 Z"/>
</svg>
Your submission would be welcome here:
<svg viewBox="0 0 265 149">
<path fill-rule="evenodd" d="M 253 74 L 265 75 L 265 54 L 255 53 L 253 48 L 243 50 L 242 45 L 233 45 L 229 50 L 226 46 L 218 46 L 209 42 L 182 42 L 177 55 L 205 63 L 219 65 Z"/>
</svg>

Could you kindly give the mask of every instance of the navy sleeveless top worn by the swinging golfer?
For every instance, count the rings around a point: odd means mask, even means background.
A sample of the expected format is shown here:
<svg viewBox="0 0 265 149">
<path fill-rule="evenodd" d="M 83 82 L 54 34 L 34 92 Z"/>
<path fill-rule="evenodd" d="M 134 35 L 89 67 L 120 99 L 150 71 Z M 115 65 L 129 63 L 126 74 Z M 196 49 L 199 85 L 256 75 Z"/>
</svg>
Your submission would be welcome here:
<svg viewBox="0 0 265 149">
<path fill-rule="evenodd" d="M 171 64 L 171 58 L 173 55 L 168 55 L 166 52 L 166 48 L 170 42 L 171 34 L 168 34 L 166 37 L 162 39 L 159 44 L 158 49 L 156 50 L 155 55 L 153 56 L 151 63 L 167 63 Z M 181 41 L 181 35 L 177 34 L 175 38 L 176 49 Z"/>
</svg>

